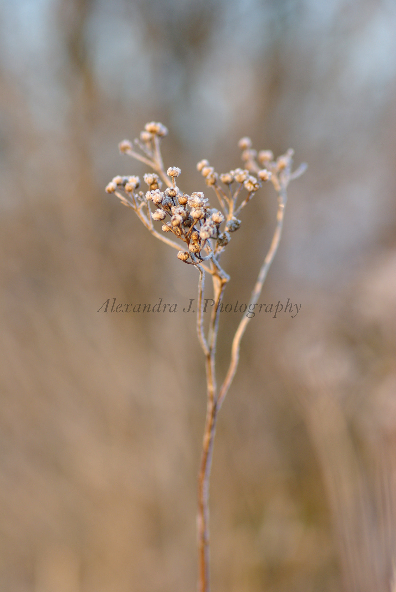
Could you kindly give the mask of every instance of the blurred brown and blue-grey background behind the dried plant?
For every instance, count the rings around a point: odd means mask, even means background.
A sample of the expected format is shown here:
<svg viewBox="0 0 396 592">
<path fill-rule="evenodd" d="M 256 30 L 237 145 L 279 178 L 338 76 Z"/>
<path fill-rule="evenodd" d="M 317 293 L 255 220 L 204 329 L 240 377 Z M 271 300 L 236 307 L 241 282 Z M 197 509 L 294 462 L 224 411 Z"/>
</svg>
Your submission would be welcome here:
<svg viewBox="0 0 396 592">
<path fill-rule="evenodd" d="M 220 414 L 217 592 L 394 591 L 396 5 L 392 0 L 0 1 L 0 588 L 195 590 L 205 417 L 197 272 L 107 195 L 117 144 L 162 121 L 166 167 L 308 170 Z M 225 301 L 247 302 L 275 223 L 243 213 Z M 223 320 L 218 374 L 238 321 Z M 176 318 L 176 320 L 175 320 Z"/>
</svg>

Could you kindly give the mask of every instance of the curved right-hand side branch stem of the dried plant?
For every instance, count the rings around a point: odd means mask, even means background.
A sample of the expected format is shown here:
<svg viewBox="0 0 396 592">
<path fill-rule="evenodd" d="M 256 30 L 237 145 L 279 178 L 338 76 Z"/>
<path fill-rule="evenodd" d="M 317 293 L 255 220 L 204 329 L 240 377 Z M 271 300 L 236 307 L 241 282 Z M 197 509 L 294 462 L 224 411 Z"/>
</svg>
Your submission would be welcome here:
<svg viewBox="0 0 396 592">
<path fill-rule="evenodd" d="M 276 228 L 275 233 L 272 237 L 271 246 L 269 247 L 268 253 L 264 259 L 263 265 L 259 271 L 259 275 L 257 277 L 257 281 L 255 287 L 253 288 L 252 296 L 250 297 L 250 304 L 257 304 L 257 300 L 260 297 L 262 287 L 265 281 L 265 278 L 268 274 L 268 270 L 271 267 L 271 263 L 273 258 L 275 257 L 275 253 L 278 250 L 279 241 L 281 240 L 282 234 L 282 227 L 284 223 L 284 215 L 285 215 L 285 206 L 286 206 L 287 196 L 285 189 L 278 194 L 278 211 L 276 213 Z M 248 307 L 249 308 L 249 307 Z M 231 346 L 231 361 L 230 366 L 228 367 L 228 372 L 226 378 L 224 378 L 224 382 L 221 385 L 220 391 L 218 393 L 217 398 L 217 407 L 220 409 L 221 405 L 223 404 L 224 398 L 226 398 L 228 389 L 230 388 L 231 382 L 233 381 L 238 362 L 239 362 L 239 349 L 240 349 L 240 342 L 243 337 L 243 334 L 246 330 L 247 324 L 249 323 L 250 318 L 244 316 L 239 323 L 239 326 L 236 330 L 233 339 L 233 345 Z"/>
</svg>

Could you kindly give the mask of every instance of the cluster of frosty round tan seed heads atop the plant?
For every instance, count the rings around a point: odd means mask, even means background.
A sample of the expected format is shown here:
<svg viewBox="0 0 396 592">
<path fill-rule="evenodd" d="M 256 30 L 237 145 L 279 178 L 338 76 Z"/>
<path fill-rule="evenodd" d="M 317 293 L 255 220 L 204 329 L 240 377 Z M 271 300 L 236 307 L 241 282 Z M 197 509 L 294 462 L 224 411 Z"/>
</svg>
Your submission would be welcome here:
<svg viewBox="0 0 396 592">
<path fill-rule="evenodd" d="M 276 191 L 291 178 L 292 150 L 274 160 L 271 150 L 252 149 L 250 138 L 239 141 L 244 168 L 230 170 L 220 175 L 208 160 L 198 162 L 197 169 L 206 185 L 215 191 L 220 209 L 212 208 L 201 191 L 191 195 L 179 189 L 176 179 L 181 175 L 177 166 L 170 166 L 165 173 L 160 153 L 160 140 L 168 134 L 162 123 L 147 123 L 134 140 L 140 152 L 134 152 L 129 140 L 120 143 L 120 152 L 149 165 L 154 172 L 143 176 L 146 191 L 138 191 L 138 176 L 115 176 L 107 185 L 108 193 L 115 193 L 121 202 L 133 208 L 145 226 L 152 232 L 153 222 L 162 223 L 164 233 L 172 233 L 185 243 L 178 258 L 196 265 L 202 260 L 218 259 L 218 255 L 230 242 L 231 233 L 239 229 L 240 211 L 252 199 L 262 182 L 272 181 Z M 162 191 L 163 183 L 167 185 Z M 121 193 L 122 192 L 122 193 Z M 151 205 L 156 209 L 152 211 Z M 188 261 L 188 259 L 191 259 Z"/>
</svg>

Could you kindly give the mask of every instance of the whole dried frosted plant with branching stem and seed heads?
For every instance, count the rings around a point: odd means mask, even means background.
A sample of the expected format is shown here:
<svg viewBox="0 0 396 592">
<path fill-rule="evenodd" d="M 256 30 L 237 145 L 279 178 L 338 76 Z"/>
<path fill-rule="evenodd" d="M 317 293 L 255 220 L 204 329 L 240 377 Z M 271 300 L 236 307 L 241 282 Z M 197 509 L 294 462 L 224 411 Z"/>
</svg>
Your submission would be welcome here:
<svg viewBox="0 0 396 592">
<path fill-rule="evenodd" d="M 230 365 L 226 377 L 217 387 L 215 376 L 215 352 L 218 333 L 218 308 L 211 313 L 207 334 L 205 334 L 202 308 L 204 302 L 205 272 L 213 281 L 214 300 L 221 300 L 230 276 L 221 268 L 220 259 L 233 234 L 239 230 L 242 210 L 265 182 L 271 182 L 278 199 L 275 233 L 266 253 L 257 281 L 253 287 L 249 304 L 257 304 L 268 269 L 278 249 L 287 201 L 287 188 L 292 179 L 302 175 L 306 165 L 300 165 L 292 172 L 293 150 L 274 159 L 271 150 L 252 148 L 250 138 L 239 141 L 242 150 L 243 168 L 226 173 L 215 172 L 208 160 L 198 162 L 197 169 L 205 179 L 208 189 L 216 195 L 218 206 L 211 207 L 208 198 L 201 191 L 186 194 L 179 189 L 181 169 L 170 166 L 166 172 L 160 152 L 160 142 L 168 134 L 162 123 L 152 121 L 144 126 L 140 138 L 134 143 L 124 140 L 120 152 L 143 162 L 150 170 L 144 177 L 147 191 L 139 191 L 138 176 L 115 176 L 106 191 L 114 193 L 121 203 L 132 208 L 147 230 L 157 239 L 178 250 L 181 264 L 194 265 L 199 272 L 197 334 L 205 355 L 207 376 L 207 416 L 201 465 L 198 476 L 198 556 L 199 592 L 210 590 L 209 553 L 209 480 L 217 414 L 234 378 L 238 361 L 240 341 L 250 318 L 244 316 L 237 327 L 231 345 Z M 166 185 L 165 191 L 162 186 Z M 152 205 L 155 208 L 152 211 Z M 176 242 L 178 241 L 178 242 Z"/>
</svg>

